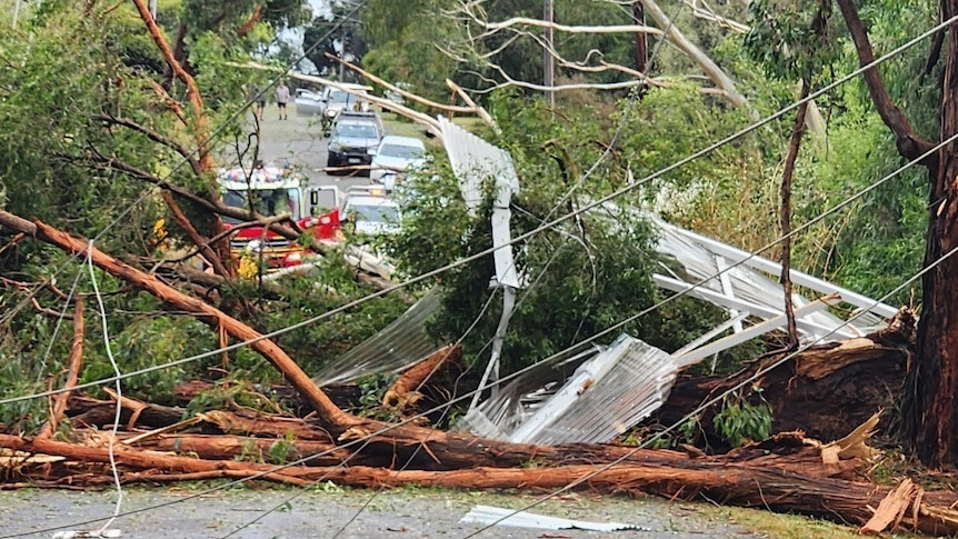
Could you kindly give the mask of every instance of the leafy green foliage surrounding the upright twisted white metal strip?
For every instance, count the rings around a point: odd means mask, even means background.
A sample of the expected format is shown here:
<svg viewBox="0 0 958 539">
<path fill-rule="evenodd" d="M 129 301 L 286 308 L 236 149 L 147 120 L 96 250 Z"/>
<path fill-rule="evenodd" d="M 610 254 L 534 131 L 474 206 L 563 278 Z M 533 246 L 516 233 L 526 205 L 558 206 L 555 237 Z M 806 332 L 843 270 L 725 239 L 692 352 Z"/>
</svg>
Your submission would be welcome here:
<svg viewBox="0 0 958 539">
<path fill-rule="evenodd" d="M 602 137 L 602 120 L 586 109 L 568 111 L 561 123 L 555 123 L 546 108 L 530 100 L 502 96 L 492 103 L 497 117 L 509 118 L 501 122 L 503 132 L 496 142 L 510 151 L 520 178 L 521 190 L 512 203 L 515 236 L 582 206 L 627 178 L 618 160 L 606 160 L 575 197 L 559 204 L 578 181 L 580 163 L 599 158 L 602 146 L 593 140 Z M 411 178 L 400 192 L 406 209 L 403 227 L 391 252 L 400 269 L 410 275 L 475 254 L 491 244 L 490 199 L 470 216 L 448 164 L 439 156 L 435 163 L 435 170 Z M 651 246 L 655 230 L 639 213 L 623 208 L 588 212 L 517 247 L 517 266 L 527 276 L 528 285 L 518 292 L 505 339 L 505 371 L 551 356 L 662 298 L 651 280 L 658 263 Z M 485 349 L 498 325 L 501 302 L 490 298 L 495 292 L 489 289 L 493 273 L 491 257 L 485 257 L 438 280 L 443 311 L 431 325 L 438 339 L 458 339 L 486 309 L 463 341 L 467 360 L 476 359 Z M 675 350 L 721 316 L 717 309 L 683 300 L 621 330 Z"/>
</svg>

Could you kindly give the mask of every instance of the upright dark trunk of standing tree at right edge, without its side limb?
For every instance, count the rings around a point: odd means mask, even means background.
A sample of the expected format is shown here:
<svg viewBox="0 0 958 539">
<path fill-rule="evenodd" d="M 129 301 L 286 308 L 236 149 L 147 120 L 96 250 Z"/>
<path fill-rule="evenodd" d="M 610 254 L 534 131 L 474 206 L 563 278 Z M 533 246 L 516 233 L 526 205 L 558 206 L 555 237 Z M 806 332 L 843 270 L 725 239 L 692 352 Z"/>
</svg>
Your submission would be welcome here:
<svg viewBox="0 0 958 539">
<path fill-rule="evenodd" d="M 942 20 L 958 14 L 958 0 L 941 0 Z M 940 140 L 958 132 L 958 27 L 948 29 L 941 88 Z M 937 169 L 937 170 L 936 170 Z M 918 458 L 932 467 L 958 463 L 955 392 L 958 390 L 958 147 L 938 152 L 931 180 L 925 266 L 945 258 L 922 277 L 918 353 L 908 373 L 906 425 Z"/>
</svg>

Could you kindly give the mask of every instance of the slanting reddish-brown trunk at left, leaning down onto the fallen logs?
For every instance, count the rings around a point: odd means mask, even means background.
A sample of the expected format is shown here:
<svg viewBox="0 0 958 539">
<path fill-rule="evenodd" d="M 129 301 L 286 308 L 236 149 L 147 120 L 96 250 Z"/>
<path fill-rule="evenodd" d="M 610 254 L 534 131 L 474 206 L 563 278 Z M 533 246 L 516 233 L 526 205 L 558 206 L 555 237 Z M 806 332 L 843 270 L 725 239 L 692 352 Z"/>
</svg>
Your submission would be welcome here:
<svg viewBox="0 0 958 539">
<path fill-rule="evenodd" d="M 303 398 L 307 399 L 307 401 L 309 401 L 310 406 L 313 407 L 320 418 L 329 426 L 348 428 L 357 423 L 358 418 L 355 418 L 337 408 L 336 405 L 329 400 L 326 393 L 323 393 L 309 376 L 307 376 L 307 373 L 303 372 L 303 370 L 292 360 L 292 358 L 290 358 L 273 341 L 265 339 L 260 332 L 256 331 L 251 327 L 227 316 L 219 309 L 197 298 L 180 292 L 160 281 L 154 276 L 144 273 L 132 266 L 110 257 L 96 247 L 89 246 L 89 241 L 73 238 L 70 234 L 40 221 L 30 222 L 14 216 L 13 213 L 0 210 L 0 224 L 57 246 L 71 254 L 87 253 L 87 249 L 90 247 L 89 256 L 98 268 L 136 286 L 137 288 L 152 293 L 166 303 L 178 309 L 192 312 L 196 315 L 198 320 L 207 323 L 214 330 L 223 328 L 237 340 L 252 341 L 250 347 L 279 369 L 286 379 L 289 380 L 289 382 L 297 389 L 297 391 L 299 391 L 300 395 L 303 396 Z"/>
</svg>

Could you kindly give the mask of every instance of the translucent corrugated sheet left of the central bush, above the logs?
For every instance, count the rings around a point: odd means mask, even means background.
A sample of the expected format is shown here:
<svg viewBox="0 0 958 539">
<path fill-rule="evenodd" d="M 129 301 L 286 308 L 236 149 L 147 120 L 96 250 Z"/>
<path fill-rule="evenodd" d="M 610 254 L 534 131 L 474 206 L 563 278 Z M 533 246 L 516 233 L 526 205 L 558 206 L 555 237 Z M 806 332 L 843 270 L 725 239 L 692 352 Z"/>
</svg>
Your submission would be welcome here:
<svg viewBox="0 0 958 539">
<path fill-rule="evenodd" d="M 400 372 L 439 350 L 426 333 L 426 321 L 439 309 L 439 295 L 430 291 L 380 332 L 337 358 L 313 380 L 326 386 L 349 382 L 381 372 Z"/>
</svg>

